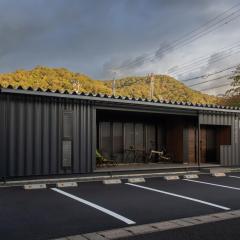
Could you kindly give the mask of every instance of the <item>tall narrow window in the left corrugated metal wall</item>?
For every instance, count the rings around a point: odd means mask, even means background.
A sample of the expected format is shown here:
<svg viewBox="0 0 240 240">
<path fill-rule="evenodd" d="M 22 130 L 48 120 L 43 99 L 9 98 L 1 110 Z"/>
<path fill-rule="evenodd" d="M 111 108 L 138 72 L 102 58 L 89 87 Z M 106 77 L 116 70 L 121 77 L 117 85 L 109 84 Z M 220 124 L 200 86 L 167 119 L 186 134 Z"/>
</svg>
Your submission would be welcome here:
<svg viewBox="0 0 240 240">
<path fill-rule="evenodd" d="M 63 112 L 62 121 L 62 167 L 72 166 L 72 138 L 73 138 L 73 116 L 72 112 Z"/>
</svg>

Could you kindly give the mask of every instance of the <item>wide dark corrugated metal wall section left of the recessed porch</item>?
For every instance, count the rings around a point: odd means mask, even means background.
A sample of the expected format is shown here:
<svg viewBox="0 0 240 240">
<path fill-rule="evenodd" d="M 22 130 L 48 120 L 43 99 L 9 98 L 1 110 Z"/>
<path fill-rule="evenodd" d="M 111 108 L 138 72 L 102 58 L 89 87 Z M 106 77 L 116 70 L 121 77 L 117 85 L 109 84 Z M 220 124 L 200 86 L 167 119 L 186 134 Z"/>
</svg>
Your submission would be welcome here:
<svg viewBox="0 0 240 240">
<path fill-rule="evenodd" d="M 5 100 L 4 100 L 5 98 Z M 1 94 L 6 127 L 1 134 L 6 177 L 87 173 L 95 159 L 95 109 L 90 102 Z M 73 112 L 72 167 L 62 167 L 63 111 Z M 2 115 L 1 115 L 2 116 Z M 3 122 L 1 123 L 3 126 Z M 95 137 L 94 137 L 95 138 Z M 92 162 L 93 161 L 93 162 Z M 2 174 L 3 174 L 2 170 Z"/>
</svg>

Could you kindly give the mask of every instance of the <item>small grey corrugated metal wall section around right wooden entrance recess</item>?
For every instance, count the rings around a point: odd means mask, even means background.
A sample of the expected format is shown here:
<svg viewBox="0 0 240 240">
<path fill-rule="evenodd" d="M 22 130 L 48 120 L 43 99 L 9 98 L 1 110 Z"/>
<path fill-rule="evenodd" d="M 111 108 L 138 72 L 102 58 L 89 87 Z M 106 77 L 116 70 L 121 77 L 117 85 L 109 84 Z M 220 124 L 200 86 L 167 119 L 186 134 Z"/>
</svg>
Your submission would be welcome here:
<svg viewBox="0 0 240 240">
<path fill-rule="evenodd" d="M 231 145 L 221 146 L 220 163 L 224 166 L 240 165 L 240 123 L 236 114 L 200 113 L 199 123 L 231 126 Z"/>
</svg>

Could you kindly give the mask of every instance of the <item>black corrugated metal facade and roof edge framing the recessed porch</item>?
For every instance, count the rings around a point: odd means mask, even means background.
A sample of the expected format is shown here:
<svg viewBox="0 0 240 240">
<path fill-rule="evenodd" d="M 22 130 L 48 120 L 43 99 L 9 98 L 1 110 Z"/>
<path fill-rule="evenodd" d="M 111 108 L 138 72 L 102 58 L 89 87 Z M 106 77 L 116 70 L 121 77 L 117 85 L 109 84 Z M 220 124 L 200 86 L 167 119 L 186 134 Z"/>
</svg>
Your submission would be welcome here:
<svg viewBox="0 0 240 240">
<path fill-rule="evenodd" d="M 194 116 L 199 125 L 227 122 L 232 146 L 221 148 L 221 164 L 240 165 L 237 108 L 0 88 L 0 177 L 92 173 L 99 110 Z"/>
</svg>

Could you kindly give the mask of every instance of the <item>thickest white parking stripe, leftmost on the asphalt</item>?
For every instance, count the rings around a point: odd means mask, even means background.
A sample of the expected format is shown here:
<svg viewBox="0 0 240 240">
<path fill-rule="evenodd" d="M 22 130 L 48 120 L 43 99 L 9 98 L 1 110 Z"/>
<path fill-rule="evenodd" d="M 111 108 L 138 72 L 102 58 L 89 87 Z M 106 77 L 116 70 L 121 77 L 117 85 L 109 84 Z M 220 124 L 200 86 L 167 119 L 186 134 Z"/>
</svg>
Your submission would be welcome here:
<svg viewBox="0 0 240 240">
<path fill-rule="evenodd" d="M 89 202 L 89 201 L 87 201 L 87 200 L 85 200 L 85 199 L 76 197 L 76 196 L 74 196 L 74 195 L 72 195 L 72 194 L 70 194 L 70 193 L 67 193 L 67 192 L 65 192 L 65 191 L 62 191 L 62 190 L 60 190 L 60 189 L 58 189 L 58 188 L 51 188 L 51 189 L 52 189 L 53 191 L 55 191 L 55 192 L 58 192 L 58 193 L 64 195 L 64 196 L 67 196 L 67 197 L 72 198 L 72 199 L 74 199 L 74 200 L 76 200 L 76 201 L 78 201 L 78 202 L 81 202 L 81 203 L 83 203 L 83 204 L 85 204 L 85 205 L 88 205 L 88 206 L 90 206 L 90 207 L 92 207 L 92 208 L 95 208 L 95 209 L 97 209 L 97 210 L 99 210 L 99 211 L 101 211 L 101 212 L 103 212 L 103 213 L 105 213 L 105 214 L 108 214 L 108 215 L 110 215 L 110 216 L 112 216 L 112 217 L 114 217 L 114 218 L 117 218 L 118 220 L 120 220 L 120 221 L 122 221 L 122 222 L 125 222 L 126 224 L 129 224 L 129 225 L 131 225 L 131 224 L 136 224 L 136 222 L 134 222 L 134 221 L 132 221 L 132 220 L 130 220 L 130 219 L 128 219 L 128 218 L 125 218 L 125 217 L 123 217 L 123 216 L 121 216 L 121 215 L 119 215 L 119 214 L 117 214 L 117 213 L 115 213 L 115 212 L 113 212 L 113 211 L 111 211 L 111 210 L 108 210 L 108 209 L 106 209 L 106 208 L 104 208 L 104 207 L 101 207 L 101 206 L 99 206 L 99 205 L 97 205 L 97 204 L 95 204 L 95 203 L 92 203 L 92 202 Z"/>
</svg>

